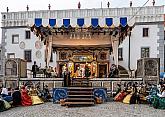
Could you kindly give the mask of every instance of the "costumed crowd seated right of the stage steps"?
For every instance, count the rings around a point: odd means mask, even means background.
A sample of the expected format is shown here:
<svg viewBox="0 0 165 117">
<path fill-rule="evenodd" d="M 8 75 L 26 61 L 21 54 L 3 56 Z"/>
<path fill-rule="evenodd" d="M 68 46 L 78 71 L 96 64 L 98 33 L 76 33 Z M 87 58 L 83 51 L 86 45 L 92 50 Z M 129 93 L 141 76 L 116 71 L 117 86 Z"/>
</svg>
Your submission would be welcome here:
<svg viewBox="0 0 165 117">
<path fill-rule="evenodd" d="M 165 109 L 165 83 L 160 82 L 159 85 L 144 85 L 128 83 L 118 84 L 118 90 L 114 96 L 115 101 L 120 101 L 126 104 L 149 103 L 154 108 Z"/>
</svg>

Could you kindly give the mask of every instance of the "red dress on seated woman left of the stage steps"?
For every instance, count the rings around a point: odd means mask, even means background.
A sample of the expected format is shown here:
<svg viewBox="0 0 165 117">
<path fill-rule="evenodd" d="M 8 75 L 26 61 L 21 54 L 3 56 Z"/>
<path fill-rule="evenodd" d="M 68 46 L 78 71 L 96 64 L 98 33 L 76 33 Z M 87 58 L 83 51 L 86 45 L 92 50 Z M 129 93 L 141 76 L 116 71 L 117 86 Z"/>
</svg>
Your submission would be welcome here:
<svg viewBox="0 0 165 117">
<path fill-rule="evenodd" d="M 26 89 L 22 89 L 22 91 L 21 91 L 21 104 L 22 104 L 22 106 L 31 106 L 32 105 L 32 99 L 28 95 Z"/>
</svg>

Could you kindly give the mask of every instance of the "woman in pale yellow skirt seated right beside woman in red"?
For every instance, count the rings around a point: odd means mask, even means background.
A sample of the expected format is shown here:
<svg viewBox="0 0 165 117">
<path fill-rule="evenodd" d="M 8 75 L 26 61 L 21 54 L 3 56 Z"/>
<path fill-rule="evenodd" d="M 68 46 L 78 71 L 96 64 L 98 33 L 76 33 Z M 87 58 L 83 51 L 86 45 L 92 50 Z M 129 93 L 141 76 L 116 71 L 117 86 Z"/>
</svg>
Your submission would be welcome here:
<svg viewBox="0 0 165 117">
<path fill-rule="evenodd" d="M 43 104 L 44 102 L 39 98 L 39 96 L 37 95 L 37 90 L 32 86 L 30 89 L 30 96 L 32 99 L 32 105 L 36 105 L 36 104 Z"/>
</svg>

